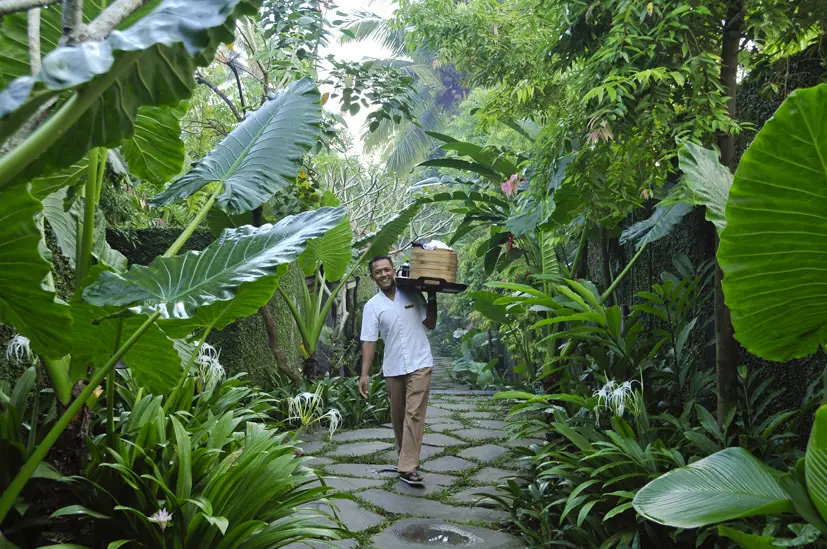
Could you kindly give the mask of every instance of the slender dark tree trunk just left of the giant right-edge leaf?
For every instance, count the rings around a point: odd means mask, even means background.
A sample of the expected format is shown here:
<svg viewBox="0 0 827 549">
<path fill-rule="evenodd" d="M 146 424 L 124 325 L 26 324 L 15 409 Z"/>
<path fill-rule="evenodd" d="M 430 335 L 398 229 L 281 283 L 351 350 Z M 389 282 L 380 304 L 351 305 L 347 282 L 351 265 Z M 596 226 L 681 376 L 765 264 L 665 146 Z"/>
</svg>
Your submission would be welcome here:
<svg viewBox="0 0 827 549">
<path fill-rule="evenodd" d="M 738 52 L 741 35 L 744 31 L 744 0 L 732 0 L 727 9 L 727 18 L 723 29 L 723 46 L 721 51 L 721 84 L 729 94 L 727 111 L 735 118 L 735 94 L 738 89 Z M 721 163 L 734 171 L 735 136 L 731 133 L 718 138 L 721 148 Z M 714 232 L 714 231 L 713 231 Z M 715 250 L 717 254 L 718 238 L 715 233 Z M 736 406 L 738 391 L 738 343 L 735 341 L 729 308 L 724 303 L 721 286 L 723 271 L 717 260 L 715 264 L 715 371 L 718 388 L 718 423 L 723 424 L 729 411 Z"/>
</svg>

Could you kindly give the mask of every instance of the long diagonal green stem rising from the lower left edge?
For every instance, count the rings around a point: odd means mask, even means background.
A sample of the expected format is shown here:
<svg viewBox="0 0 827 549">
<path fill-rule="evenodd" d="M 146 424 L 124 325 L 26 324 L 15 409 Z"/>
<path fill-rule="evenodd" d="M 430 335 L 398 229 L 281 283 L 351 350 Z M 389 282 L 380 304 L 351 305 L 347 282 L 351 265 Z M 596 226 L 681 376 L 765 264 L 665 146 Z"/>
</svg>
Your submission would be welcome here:
<svg viewBox="0 0 827 549">
<path fill-rule="evenodd" d="M 26 460 L 26 463 L 23 464 L 23 467 L 20 468 L 20 471 L 18 471 L 17 475 L 14 477 L 14 480 L 11 484 L 9 484 L 3 494 L 0 495 L 0 523 L 2 523 L 3 519 L 6 518 L 6 515 L 12 508 L 12 505 L 14 505 L 14 502 L 17 501 L 17 496 L 19 496 L 20 492 L 23 491 L 23 488 L 26 486 L 29 479 L 32 478 L 37 466 L 40 465 L 40 463 L 46 458 L 49 450 L 51 450 L 52 446 L 54 446 L 55 442 L 57 442 L 58 437 L 60 437 L 61 433 L 66 430 L 69 423 L 75 419 L 75 416 L 89 400 L 89 397 L 92 396 L 92 393 L 95 392 L 97 386 L 101 383 L 101 381 L 103 381 L 110 370 L 115 367 L 115 364 L 118 363 L 121 357 L 123 357 L 123 355 L 126 354 L 135 342 L 140 339 L 144 332 L 152 326 L 160 315 L 160 313 L 154 313 L 146 319 L 146 322 L 141 324 L 141 327 L 138 328 L 134 334 L 132 334 L 132 336 L 121 346 L 120 349 L 118 349 L 114 355 L 112 355 L 109 362 L 95 372 L 95 375 L 93 375 L 92 379 L 89 380 L 89 384 L 86 385 L 83 392 L 81 392 L 72 404 L 69 405 L 66 411 L 63 412 L 63 415 L 60 416 L 60 419 L 57 420 L 46 436 L 43 437 L 43 440 L 37 445 L 35 451 L 32 452 L 32 455 Z"/>
</svg>

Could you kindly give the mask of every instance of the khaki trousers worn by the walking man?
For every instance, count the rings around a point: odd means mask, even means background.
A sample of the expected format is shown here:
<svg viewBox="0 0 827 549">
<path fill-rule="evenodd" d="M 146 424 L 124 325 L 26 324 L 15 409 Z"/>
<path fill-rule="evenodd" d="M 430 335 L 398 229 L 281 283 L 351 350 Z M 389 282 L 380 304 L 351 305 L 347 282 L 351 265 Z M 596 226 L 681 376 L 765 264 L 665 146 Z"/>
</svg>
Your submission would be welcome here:
<svg viewBox="0 0 827 549">
<path fill-rule="evenodd" d="M 386 377 L 391 399 L 391 423 L 399 452 L 399 472 L 419 467 L 419 452 L 425 436 L 425 411 L 431 392 L 431 368 L 404 376 Z"/>
</svg>

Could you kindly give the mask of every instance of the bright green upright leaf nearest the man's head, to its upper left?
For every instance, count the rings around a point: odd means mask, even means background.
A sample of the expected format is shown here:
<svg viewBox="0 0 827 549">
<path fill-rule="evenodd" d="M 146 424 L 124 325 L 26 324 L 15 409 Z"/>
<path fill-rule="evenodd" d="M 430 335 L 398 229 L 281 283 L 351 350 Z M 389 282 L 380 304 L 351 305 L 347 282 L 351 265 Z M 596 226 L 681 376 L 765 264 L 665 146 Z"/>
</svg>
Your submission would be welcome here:
<svg viewBox="0 0 827 549">
<path fill-rule="evenodd" d="M 338 206 L 339 200 L 333 193 L 326 192 L 322 198 L 323 206 Z M 325 280 L 335 282 L 341 279 L 350 263 L 350 243 L 353 233 L 350 219 L 345 215 L 338 225 L 327 231 L 321 238 L 311 240 L 307 249 L 299 256 L 299 267 L 304 276 L 311 276 L 324 267 Z"/>
</svg>

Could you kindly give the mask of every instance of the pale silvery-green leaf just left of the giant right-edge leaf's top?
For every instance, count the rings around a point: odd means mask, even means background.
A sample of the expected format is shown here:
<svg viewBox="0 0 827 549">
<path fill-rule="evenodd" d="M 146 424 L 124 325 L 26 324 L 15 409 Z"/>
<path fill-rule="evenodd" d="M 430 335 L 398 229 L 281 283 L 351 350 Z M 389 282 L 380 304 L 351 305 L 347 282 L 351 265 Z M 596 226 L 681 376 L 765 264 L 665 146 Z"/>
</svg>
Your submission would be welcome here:
<svg viewBox="0 0 827 549">
<path fill-rule="evenodd" d="M 706 219 L 718 233 L 726 227 L 727 199 L 732 187 L 732 173 L 718 161 L 718 153 L 695 143 L 685 143 L 678 151 L 678 163 L 684 183 L 695 206 L 706 207 Z"/>
</svg>

